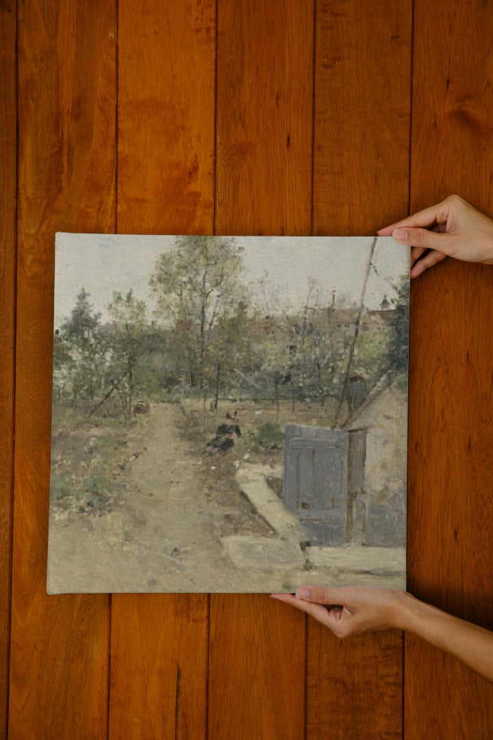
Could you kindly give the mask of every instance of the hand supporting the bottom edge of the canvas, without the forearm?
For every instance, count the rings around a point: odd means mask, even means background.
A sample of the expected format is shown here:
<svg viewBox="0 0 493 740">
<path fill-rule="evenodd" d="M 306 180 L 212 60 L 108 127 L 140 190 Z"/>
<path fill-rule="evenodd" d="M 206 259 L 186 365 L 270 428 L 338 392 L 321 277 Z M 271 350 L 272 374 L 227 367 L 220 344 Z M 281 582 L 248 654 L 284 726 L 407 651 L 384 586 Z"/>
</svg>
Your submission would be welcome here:
<svg viewBox="0 0 493 740">
<path fill-rule="evenodd" d="M 414 598 L 404 591 L 373 586 L 302 586 L 294 596 L 292 593 L 271 593 L 271 596 L 310 614 L 337 637 L 392 627 L 403 629 L 404 605 Z"/>
</svg>

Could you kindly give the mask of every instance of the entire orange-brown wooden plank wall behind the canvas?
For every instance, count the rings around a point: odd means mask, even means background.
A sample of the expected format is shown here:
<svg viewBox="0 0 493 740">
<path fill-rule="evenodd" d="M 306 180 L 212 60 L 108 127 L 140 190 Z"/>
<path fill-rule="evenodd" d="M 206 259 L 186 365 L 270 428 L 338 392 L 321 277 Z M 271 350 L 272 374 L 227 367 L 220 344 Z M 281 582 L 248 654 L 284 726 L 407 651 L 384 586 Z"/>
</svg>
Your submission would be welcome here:
<svg viewBox="0 0 493 740">
<path fill-rule="evenodd" d="M 491 38 L 483 0 L 0 4 L 0 736 L 493 736 L 492 685 L 410 636 L 45 589 L 55 231 L 371 234 L 453 191 L 493 215 Z M 409 590 L 488 628 L 492 289 L 413 284 L 409 387 Z"/>
</svg>

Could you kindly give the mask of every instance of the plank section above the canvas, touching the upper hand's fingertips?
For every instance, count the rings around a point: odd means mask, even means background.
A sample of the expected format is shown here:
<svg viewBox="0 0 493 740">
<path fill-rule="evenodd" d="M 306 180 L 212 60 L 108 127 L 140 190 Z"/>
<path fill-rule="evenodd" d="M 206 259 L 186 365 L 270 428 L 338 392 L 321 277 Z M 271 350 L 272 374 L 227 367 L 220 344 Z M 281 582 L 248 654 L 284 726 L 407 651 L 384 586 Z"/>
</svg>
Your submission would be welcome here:
<svg viewBox="0 0 493 740">
<path fill-rule="evenodd" d="M 412 2 L 319 0 L 313 234 L 367 235 L 407 212 Z"/>
</svg>

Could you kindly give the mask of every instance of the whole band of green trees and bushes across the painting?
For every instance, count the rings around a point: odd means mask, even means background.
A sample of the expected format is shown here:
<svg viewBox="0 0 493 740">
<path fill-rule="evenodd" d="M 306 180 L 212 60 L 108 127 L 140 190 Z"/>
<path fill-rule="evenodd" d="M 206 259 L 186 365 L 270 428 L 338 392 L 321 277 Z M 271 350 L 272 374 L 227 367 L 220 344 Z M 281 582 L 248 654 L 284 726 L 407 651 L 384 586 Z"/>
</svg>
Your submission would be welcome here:
<svg viewBox="0 0 493 740">
<path fill-rule="evenodd" d="M 270 293 L 261 314 L 258 295 L 254 306 L 244 282 L 234 239 L 179 237 L 151 278 L 159 325 L 147 320 L 146 304 L 132 290 L 114 292 L 110 320 L 101 325 L 82 288 L 55 332 L 55 400 L 85 404 L 90 414 L 123 412 L 128 422 L 135 400 L 294 404 L 339 396 L 358 309 L 336 309 L 313 283 L 299 314 L 269 309 L 281 300 Z M 407 369 L 408 283 L 392 300 L 395 309 L 387 302 L 387 311 L 363 314 L 350 375 L 361 376 L 369 392 L 390 369 Z"/>
</svg>

